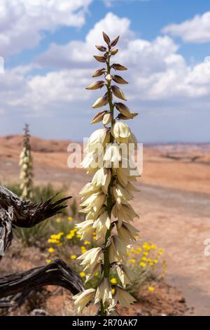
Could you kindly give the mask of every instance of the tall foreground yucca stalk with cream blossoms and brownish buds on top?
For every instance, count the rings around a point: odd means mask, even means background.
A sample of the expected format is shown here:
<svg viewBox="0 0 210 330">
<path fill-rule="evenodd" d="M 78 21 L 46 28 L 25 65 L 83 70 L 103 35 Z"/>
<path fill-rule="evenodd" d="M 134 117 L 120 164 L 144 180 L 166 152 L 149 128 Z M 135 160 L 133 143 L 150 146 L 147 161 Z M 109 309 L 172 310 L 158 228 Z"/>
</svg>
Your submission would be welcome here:
<svg viewBox="0 0 210 330">
<path fill-rule="evenodd" d="M 137 191 L 131 181 L 136 180 L 137 174 L 132 176 L 130 166 L 124 168 L 125 156 L 119 146 L 123 143 L 128 150 L 132 143 L 137 147 L 137 139 L 130 128 L 120 119 L 132 119 L 137 113 L 130 112 L 129 108 L 121 102 L 113 100 L 127 100 L 122 89 L 116 84 L 128 84 L 125 79 L 115 74 L 115 71 L 127 70 L 118 63 L 111 64 L 111 57 L 118 53 L 114 48 L 119 37 L 110 40 L 103 32 L 106 46 L 96 46 L 104 53 L 95 55 L 98 62 L 103 62 L 106 67 L 98 69 L 92 77 L 104 76 L 103 80 L 95 81 L 87 86 L 87 90 L 106 88 L 106 93 L 98 98 L 93 108 L 107 106 L 95 114 L 91 124 L 102 121 L 104 127 L 97 129 L 87 141 L 87 155 L 82 161 L 82 166 L 87 173 L 93 173 L 91 183 L 87 183 L 80 191 L 83 207 L 81 212 L 86 214 L 85 221 L 79 223 L 78 234 L 81 238 L 88 238 L 96 232 L 98 247 L 83 253 L 79 260 L 86 272 L 86 282 L 97 272 L 101 272 L 101 282 L 96 290 L 87 289 L 87 293 L 80 293 L 74 297 L 75 305 L 79 311 L 91 300 L 100 303 L 100 315 L 116 315 L 116 304 L 119 302 L 124 307 L 134 303 L 135 299 L 126 291 L 126 285 L 132 280 L 132 272 L 123 261 L 127 256 L 127 249 L 132 247 L 132 241 L 137 237 L 137 232 L 131 224 L 137 216 L 128 201 L 133 199 L 132 192 Z M 113 84 L 114 83 L 116 84 Z M 118 111 L 115 116 L 115 110 Z M 97 164 L 97 166 L 95 166 Z M 116 270 L 121 285 L 112 285 L 110 282 L 111 268 Z"/>
</svg>

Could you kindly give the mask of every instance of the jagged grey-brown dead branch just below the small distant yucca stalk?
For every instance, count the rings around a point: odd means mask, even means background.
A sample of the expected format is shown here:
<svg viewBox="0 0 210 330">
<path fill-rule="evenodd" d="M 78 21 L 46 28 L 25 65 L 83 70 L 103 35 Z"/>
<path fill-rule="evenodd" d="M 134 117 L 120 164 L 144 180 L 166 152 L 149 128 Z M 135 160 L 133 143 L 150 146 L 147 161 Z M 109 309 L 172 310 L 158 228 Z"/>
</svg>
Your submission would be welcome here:
<svg viewBox="0 0 210 330">
<path fill-rule="evenodd" d="M 34 227 L 64 209 L 66 205 L 62 203 L 70 198 L 64 197 L 53 202 L 54 196 L 45 202 L 32 203 L 21 201 L 16 194 L 0 186 L 0 259 L 11 244 L 14 226 Z"/>
</svg>

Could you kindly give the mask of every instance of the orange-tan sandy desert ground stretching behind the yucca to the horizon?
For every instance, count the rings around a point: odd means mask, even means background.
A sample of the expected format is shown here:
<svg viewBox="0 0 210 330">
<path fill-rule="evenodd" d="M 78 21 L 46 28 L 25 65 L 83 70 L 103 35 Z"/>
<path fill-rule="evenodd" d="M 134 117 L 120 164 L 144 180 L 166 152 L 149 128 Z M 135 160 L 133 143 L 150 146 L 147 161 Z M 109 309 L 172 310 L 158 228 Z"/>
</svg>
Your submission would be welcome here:
<svg viewBox="0 0 210 330">
<path fill-rule="evenodd" d="M 66 165 L 68 141 L 32 138 L 35 180 L 52 183 L 78 198 L 90 177 Z M 1 183 L 18 181 L 20 136 L 0 138 Z M 133 202 L 140 234 L 167 253 L 167 281 L 181 289 L 195 315 L 210 315 L 210 145 L 144 147 L 141 190 Z"/>
</svg>

